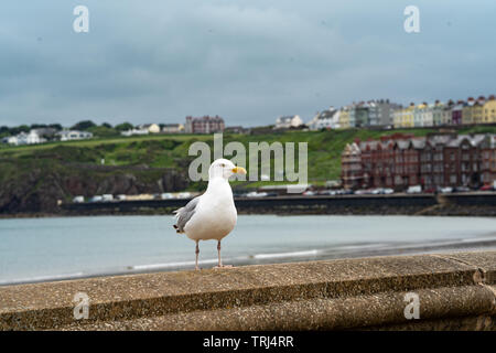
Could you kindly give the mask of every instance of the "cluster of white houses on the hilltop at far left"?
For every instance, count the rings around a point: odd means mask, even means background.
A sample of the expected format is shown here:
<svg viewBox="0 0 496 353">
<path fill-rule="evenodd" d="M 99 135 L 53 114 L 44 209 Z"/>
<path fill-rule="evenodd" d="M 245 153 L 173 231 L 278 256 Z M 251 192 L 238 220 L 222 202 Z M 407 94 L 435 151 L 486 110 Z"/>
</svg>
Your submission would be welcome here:
<svg viewBox="0 0 496 353">
<path fill-rule="evenodd" d="M 36 145 L 48 140 L 71 141 L 93 138 L 91 132 L 77 130 L 57 131 L 53 128 L 31 129 L 29 132 L 20 132 L 15 136 L 9 136 L 2 139 L 3 143 L 12 146 Z"/>
</svg>

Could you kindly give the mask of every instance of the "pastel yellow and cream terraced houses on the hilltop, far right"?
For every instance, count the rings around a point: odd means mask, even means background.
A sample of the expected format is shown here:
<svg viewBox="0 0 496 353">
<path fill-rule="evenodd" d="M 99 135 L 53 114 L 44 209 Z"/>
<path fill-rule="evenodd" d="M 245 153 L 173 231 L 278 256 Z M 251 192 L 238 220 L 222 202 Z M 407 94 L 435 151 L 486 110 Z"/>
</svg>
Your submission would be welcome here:
<svg viewBox="0 0 496 353">
<path fill-rule="evenodd" d="M 496 98 L 479 96 L 467 100 L 416 105 L 398 109 L 393 114 L 395 128 L 496 124 Z"/>
</svg>

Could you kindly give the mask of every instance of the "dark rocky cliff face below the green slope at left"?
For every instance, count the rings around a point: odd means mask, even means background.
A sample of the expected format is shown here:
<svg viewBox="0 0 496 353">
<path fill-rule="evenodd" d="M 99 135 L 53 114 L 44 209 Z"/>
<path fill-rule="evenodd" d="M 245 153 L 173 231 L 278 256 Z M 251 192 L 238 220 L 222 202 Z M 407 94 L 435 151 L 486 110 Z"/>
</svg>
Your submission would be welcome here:
<svg viewBox="0 0 496 353">
<path fill-rule="evenodd" d="M 188 179 L 174 169 L 145 167 L 65 165 L 51 168 L 13 165 L 9 174 L 0 170 L 0 215 L 54 213 L 57 201 L 76 195 L 162 193 L 184 190 Z M 6 172 L 7 173 L 7 172 Z"/>
</svg>

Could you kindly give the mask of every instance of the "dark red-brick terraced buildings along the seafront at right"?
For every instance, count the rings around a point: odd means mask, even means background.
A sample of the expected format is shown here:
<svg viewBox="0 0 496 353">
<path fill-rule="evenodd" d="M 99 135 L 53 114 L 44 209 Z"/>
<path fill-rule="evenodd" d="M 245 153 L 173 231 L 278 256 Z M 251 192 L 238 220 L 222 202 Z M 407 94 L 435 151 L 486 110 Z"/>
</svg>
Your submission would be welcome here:
<svg viewBox="0 0 496 353">
<path fill-rule="evenodd" d="M 355 141 L 342 153 L 346 189 L 478 188 L 496 180 L 496 135 L 393 135 Z"/>
</svg>

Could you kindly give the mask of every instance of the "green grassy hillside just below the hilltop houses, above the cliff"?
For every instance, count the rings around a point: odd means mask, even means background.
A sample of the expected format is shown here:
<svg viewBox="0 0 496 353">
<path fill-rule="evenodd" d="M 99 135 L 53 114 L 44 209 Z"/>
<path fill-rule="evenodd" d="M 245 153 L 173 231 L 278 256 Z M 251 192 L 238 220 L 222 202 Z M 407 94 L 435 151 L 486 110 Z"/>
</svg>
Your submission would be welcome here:
<svg viewBox="0 0 496 353">
<path fill-rule="evenodd" d="M 325 181 L 339 178 L 341 152 L 346 143 L 358 138 L 376 139 L 396 132 L 424 136 L 430 129 L 409 130 L 332 130 L 332 131 L 288 131 L 271 135 L 224 135 L 224 146 L 239 141 L 248 150 L 249 142 L 276 141 L 309 143 L 309 179 Z M 496 127 L 476 127 L 462 129 L 460 133 L 496 132 Z M 0 163 L 6 160 L 51 159 L 52 162 L 100 164 L 106 165 L 147 165 L 150 168 L 180 169 L 188 164 L 194 157 L 188 157 L 190 146 L 195 141 L 205 141 L 213 146 L 213 136 L 206 135 L 154 135 L 141 137 L 118 137 L 82 141 L 53 142 L 36 146 L 3 147 L 0 149 Z M 213 148 L 212 148 L 213 150 Z M 187 163 L 186 163 L 187 162 Z M 4 171 L 0 171 L 0 175 Z M 1 176 L 0 176 L 1 178 Z"/>
</svg>

